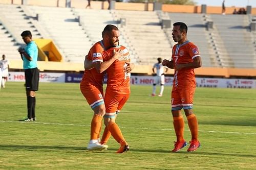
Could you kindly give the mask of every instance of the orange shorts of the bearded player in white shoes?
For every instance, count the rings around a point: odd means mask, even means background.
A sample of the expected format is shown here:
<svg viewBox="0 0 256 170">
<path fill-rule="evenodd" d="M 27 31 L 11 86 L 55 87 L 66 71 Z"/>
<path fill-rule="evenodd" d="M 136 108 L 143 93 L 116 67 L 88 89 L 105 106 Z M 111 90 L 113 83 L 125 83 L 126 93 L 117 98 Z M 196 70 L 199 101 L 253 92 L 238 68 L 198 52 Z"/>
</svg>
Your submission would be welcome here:
<svg viewBox="0 0 256 170">
<path fill-rule="evenodd" d="M 104 104 L 103 87 L 84 85 L 83 83 L 80 83 L 80 90 L 92 109 Z"/>
</svg>

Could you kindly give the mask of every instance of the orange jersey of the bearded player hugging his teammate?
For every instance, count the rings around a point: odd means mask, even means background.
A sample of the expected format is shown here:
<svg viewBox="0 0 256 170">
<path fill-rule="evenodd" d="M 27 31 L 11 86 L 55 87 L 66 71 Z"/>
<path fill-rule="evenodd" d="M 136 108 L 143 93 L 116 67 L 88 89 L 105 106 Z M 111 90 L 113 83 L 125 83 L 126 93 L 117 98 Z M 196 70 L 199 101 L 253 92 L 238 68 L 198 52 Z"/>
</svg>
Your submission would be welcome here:
<svg viewBox="0 0 256 170">
<path fill-rule="evenodd" d="M 105 50 L 102 41 L 96 42 L 90 49 L 88 53 L 88 60 L 92 62 L 101 61 L 103 62 L 102 52 Z M 82 84 L 92 84 L 95 86 L 103 86 L 103 73 L 98 73 L 95 68 L 90 70 L 84 70 L 82 77 Z"/>
</svg>

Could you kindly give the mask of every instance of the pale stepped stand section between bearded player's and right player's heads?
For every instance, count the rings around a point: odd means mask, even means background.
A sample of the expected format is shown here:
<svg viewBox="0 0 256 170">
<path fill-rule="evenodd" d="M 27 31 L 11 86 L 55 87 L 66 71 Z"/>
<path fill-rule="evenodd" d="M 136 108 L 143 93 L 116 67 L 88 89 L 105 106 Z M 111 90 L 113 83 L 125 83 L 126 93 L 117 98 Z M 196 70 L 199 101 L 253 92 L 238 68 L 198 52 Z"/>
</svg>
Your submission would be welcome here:
<svg viewBox="0 0 256 170">
<path fill-rule="evenodd" d="M 158 57 L 169 57 L 172 45 L 161 29 L 159 16 L 152 11 L 111 11 L 115 18 L 124 18 L 120 31 L 132 49 L 138 64 L 153 65 Z"/>
</svg>

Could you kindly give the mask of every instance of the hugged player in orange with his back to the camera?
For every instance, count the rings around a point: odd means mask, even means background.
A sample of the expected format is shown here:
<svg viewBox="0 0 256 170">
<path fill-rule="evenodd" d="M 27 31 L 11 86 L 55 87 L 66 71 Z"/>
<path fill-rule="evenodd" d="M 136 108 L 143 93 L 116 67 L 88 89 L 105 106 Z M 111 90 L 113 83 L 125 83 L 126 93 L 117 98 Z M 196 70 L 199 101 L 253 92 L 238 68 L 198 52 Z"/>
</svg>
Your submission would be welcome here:
<svg viewBox="0 0 256 170">
<path fill-rule="evenodd" d="M 117 47 L 110 48 L 110 50 L 104 51 L 102 55 L 108 59 L 116 48 Z M 116 153 L 123 153 L 129 151 L 130 147 L 125 141 L 118 125 L 115 123 L 115 119 L 129 99 L 131 93 L 130 71 L 134 68 L 134 64 L 130 63 L 130 54 L 126 47 L 119 46 L 118 49 L 121 50 L 122 57 L 113 62 L 113 64 L 106 69 L 108 81 L 104 96 L 106 107 L 106 113 L 104 115 L 105 130 L 101 138 L 101 144 L 106 144 L 112 135 L 115 140 L 120 143 L 120 148 Z"/>
</svg>

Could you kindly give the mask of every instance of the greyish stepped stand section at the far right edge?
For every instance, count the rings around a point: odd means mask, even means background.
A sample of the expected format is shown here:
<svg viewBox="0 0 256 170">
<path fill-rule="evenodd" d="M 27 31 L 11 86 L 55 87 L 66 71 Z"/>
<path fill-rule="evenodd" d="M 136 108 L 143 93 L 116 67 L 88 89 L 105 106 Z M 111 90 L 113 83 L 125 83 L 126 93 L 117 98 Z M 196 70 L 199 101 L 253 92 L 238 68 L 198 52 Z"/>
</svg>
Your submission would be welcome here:
<svg viewBox="0 0 256 170">
<path fill-rule="evenodd" d="M 209 15 L 214 21 L 217 52 L 227 67 L 255 68 L 254 39 L 247 15 Z M 218 35 L 218 34 L 216 34 Z"/>
</svg>

